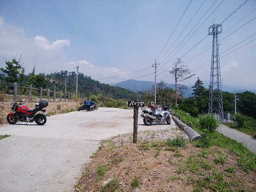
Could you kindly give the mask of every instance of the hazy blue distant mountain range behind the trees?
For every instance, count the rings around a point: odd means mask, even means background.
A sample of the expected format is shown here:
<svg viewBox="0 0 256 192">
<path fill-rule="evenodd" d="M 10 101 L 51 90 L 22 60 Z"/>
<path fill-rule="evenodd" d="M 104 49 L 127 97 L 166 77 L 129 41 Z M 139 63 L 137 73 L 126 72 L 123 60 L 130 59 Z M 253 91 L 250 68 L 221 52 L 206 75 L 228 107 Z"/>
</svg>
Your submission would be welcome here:
<svg viewBox="0 0 256 192">
<path fill-rule="evenodd" d="M 208 89 L 209 84 L 210 84 L 209 81 L 207 81 L 207 80 L 203 81 L 203 86 L 206 89 Z M 114 86 L 119 86 L 119 87 L 126 88 L 126 89 L 129 89 L 134 92 L 138 92 L 138 91 L 144 91 L 146 89 L 151 89 L 152 86 L 154 86 L 154 85 L 155 85 L 155 82 L 153 82 L 153 81 L 127 80 L 127 81 L 117 83 Z M 178 84 L 178 87 L 181 87 L 181 86 L 183 86 L 183 85 Z M 188 88 L 187 90 L 184 91 L 185 92 L 184 97 L 188 98 L 193 93 L 193 89 L 192 89 L 193 85 L 190 85 L 190 86 L 184 85 L 184 86 L 186 86 Z M 175 84 L 169 83 L 169 84 L 166 84 L 166 87 L 175 89 Z M 224 84 L 221 85 L 221 88 L 222 88 L 222 91 L 227 91 L 230 93 L 243 93 L 245 91 L 251 91 L 256 94 L 256 90 L 250 89 L 250 88 L 239 89 L 239 88 L 230 87 L 230 86 L 227 86 Z"/>
</svg>

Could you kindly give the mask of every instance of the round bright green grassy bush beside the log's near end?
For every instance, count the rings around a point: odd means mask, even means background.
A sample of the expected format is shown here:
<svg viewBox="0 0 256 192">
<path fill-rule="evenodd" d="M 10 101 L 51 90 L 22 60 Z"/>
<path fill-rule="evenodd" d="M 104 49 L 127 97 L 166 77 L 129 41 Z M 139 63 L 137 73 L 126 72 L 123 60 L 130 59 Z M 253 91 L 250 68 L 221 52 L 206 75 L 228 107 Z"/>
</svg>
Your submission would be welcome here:
<svg viewBox="0 0 256 192">
<path fill-rule="evenodd" d="M 209 132 L 214 132 L 219 127 L 218 120 L 211 116 L 210 114 L 207 115 L 200 115 L 199 116 L 199 128 L 201 130 L 208 130 Z"/>
</svg>

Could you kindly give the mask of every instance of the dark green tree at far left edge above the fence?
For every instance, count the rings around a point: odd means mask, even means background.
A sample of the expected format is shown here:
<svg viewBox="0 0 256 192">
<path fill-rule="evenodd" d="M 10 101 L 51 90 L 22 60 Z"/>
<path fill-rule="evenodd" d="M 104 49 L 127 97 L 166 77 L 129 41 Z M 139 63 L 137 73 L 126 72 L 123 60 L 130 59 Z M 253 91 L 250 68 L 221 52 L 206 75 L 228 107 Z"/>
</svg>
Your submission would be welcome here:
<svg viewBox="0 0 256 192">
<path fill-rule="evenodd" d="M 19 64 L 19 61 L 16 61 L 16 59 L 14 58 L 11 62 L 5 61 L 5 64 L 6 67 L 1 67 L 0 70 L 2 72 L 5 72 L 8 76 L 2 77 L 2 79 L 9 83 L 18 82 L 22 84 L 25 69 L 24 67 L 22 67 L 22 65 Z"/>
</svg>

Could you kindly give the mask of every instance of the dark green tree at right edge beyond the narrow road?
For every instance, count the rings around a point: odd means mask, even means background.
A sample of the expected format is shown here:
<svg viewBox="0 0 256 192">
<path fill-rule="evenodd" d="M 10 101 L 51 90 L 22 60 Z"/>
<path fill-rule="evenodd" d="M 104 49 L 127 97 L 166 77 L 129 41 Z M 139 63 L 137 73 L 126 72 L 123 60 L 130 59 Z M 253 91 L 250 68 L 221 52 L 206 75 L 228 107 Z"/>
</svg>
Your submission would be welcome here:
<svg viewBox="0 0 256 192">
<path fill-rule="evenodd" d="M 250 91 L 237 94 L 237 108 L 243 115 L 256 119 L 256 94 Z"/>
</svg>

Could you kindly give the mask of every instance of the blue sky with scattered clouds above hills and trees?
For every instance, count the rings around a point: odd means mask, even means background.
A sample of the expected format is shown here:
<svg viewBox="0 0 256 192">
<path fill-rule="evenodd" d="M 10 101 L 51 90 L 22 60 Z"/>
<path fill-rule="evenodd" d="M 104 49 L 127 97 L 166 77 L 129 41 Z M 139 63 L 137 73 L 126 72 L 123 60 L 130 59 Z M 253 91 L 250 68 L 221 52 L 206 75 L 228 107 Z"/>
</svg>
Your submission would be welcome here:
<svg viewBox="0 0 256 192">
<path fill-rule="evenodd" d="M 84 75 L 113 84 L 154 81 L 156 60 L 157 82 L 174 83 L 168 71 L 182 58 L 195 73 L 184 84 L 193 85 L 210 79 L 208 28 L 222 23 L 222 84 L 256 89 L 256 0 L 236 10 L 244 2 L 0 0 L 0 67 L 22 55 L 26 74 L 34 65 L 36 74 L 79 65 Z"/>
</svg>

